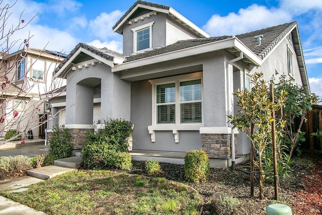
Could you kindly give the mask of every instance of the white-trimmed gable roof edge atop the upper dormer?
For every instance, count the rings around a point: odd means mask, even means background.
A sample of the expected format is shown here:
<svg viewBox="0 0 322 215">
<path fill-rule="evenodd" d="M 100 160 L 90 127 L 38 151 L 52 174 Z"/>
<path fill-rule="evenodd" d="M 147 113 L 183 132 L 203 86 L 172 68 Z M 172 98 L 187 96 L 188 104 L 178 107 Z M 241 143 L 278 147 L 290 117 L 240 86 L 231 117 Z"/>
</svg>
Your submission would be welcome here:
<svg viewBox="0 0 322 215">
<path fill-rule="evenodd" d="M 125 14 L 120 18 L 120 20 L 117 21 L 116 24 L 113 26 L 113 32 L 122 34 L 122 26 L 132 18 L 140 16 L 140 11 L 142 9 L 168 14 L 171 18 L 179 22 L 183 27 L 189 29 L 190 31 L 194 32 L 200 37 L 210 37 L 208 33 L 206 33 L 204 30 L 193 24 L 191 21 L 182 16 L 173 8 L 165 5 L 158 5 L 144 1 L 136 1 L 134 5 L 131 6 L 131 8 L 127 12 L 125 12 Z"/>
</svg>

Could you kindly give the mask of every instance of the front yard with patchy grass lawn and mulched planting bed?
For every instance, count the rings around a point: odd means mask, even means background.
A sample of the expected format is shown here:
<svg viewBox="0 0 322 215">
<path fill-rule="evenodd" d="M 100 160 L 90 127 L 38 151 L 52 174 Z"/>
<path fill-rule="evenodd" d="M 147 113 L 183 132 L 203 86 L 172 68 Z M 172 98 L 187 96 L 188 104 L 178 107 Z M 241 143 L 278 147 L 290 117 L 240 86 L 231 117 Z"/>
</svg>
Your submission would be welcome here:
<svg viewBox="0 0 322 215">
<path fill-rule="evenodd" d="M 152 178 L 145 177 L 144 162 L 133 161 L 130 171 L 79 170 L 31 185 L 23 194 L 0 194 L 48 214 L 266 214 L 266 206 L 276 203 L 267 183 L 266 199 L 257 198 L 257 185 L 250 198 L 243 171 L 211 169 L 208 180 L 196 184 L 186 181 L 183 165 L 160 165 L 162 172 Z M 296 158 L 292 168 L 280 180 L 279 203 L 293 214 L 321 214 L 322 162 Z"/>
</svg>

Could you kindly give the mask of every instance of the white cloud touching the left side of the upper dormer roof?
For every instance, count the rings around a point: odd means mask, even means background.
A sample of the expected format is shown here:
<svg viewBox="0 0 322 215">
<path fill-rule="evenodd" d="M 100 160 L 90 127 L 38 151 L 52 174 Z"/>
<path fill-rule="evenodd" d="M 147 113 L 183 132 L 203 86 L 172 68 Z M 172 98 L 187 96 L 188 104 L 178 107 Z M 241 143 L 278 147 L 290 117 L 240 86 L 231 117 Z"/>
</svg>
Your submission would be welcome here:
<svg viewBox="0 0 322 215">
<path fill-rule="evenodd" d="M 102 40 L 115 36 L 112 27 L 122 15 L 123 12 L 118 10 L 109 14 L 101 13 L 100 16 L 96 17 L 96 19 L 90 21 L 90 29 L 92 33 Z"/>
</svg>

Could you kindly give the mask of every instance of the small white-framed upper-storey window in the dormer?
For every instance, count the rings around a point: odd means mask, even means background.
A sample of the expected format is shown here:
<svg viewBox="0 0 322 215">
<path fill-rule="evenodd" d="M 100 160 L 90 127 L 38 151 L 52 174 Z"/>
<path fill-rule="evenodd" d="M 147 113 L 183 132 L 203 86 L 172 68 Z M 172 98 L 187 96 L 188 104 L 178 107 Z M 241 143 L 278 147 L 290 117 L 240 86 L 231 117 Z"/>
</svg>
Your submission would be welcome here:
<svg viewBox="0 0 322 215">
<path fill-rule="evenodd" d="M 131 29 L 133 31 L 133 52 L 152 48 L 152 25 L 154 22 Z"/>
</svg>

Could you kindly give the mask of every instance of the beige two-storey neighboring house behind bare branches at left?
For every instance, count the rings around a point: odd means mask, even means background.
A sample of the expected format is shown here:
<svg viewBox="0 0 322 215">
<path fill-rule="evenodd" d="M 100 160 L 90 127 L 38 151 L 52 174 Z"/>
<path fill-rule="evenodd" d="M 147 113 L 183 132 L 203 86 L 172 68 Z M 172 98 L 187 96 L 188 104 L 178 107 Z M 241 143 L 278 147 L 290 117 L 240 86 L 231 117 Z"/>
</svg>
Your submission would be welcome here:
<svg viewBox="0 0 322 215">
<path fill-rule="evenodd" d="M 9 129 L 17 129 L 25 134 L 32 130 L 34 138 L 44 138 L 44 113 L 48 108 L 48 98 L 45 95 L 66 85 L 64 79 L 53 80 L 53 71 L 63 59 L 62 53 L 27 47 L 2 57 L 2 138 Z"/>
</svg>

